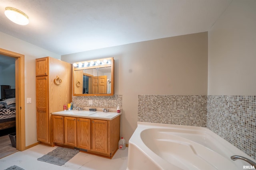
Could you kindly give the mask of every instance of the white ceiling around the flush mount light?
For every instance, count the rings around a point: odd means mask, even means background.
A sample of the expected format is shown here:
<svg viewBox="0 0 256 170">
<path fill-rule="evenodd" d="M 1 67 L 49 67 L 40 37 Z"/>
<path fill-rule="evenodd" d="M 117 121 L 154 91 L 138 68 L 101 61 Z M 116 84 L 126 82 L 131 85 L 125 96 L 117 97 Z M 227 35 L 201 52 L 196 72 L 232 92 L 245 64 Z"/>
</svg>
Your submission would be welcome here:
<svg viewBox="0 0 256 170">
<path fill-rule="evenodd" d="M 232 0 L 1 0 L 0 31 L 58 55 L 208 31 Z M 28 25 L 4 15 L 26 13 Z"/>
</svg>

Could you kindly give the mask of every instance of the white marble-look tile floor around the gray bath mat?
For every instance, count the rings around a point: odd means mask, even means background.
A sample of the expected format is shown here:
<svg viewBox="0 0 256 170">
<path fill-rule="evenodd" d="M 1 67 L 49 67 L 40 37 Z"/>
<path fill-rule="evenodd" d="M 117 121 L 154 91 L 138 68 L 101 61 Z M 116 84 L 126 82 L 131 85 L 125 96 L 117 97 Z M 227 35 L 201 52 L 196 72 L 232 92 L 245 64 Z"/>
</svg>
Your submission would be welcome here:
<svg viewBox="0 0 256 170">
<path fill-rule="evenodd" d="M 0 159 L 0 170 L 16 165 L 24 170 L 126 170 L 128 148 L 117 150 L 112 159 L 79 152 L 62 166 L 38 161 L 44 154 L 54 150 L 55 147 L 36 145 L 22 152 L 16 152 Z"/>
</svg>

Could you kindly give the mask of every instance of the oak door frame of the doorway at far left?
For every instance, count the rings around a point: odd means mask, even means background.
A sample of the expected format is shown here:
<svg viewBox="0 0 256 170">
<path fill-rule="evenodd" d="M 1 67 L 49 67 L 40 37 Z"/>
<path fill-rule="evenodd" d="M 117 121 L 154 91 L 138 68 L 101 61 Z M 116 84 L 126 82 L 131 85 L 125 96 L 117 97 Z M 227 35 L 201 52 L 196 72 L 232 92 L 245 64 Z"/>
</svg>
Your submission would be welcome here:
<svg viewBox="0 0 256 170">
<path fill-rule="evenodd" d="M 16 96 L 16 149 L 26 150 L 25 136 L 25 86 L 24 86 L 24 58 L 19 53 L 0 48 L 0 55 L 15 58 L 15 96 Z"/>
</svg>

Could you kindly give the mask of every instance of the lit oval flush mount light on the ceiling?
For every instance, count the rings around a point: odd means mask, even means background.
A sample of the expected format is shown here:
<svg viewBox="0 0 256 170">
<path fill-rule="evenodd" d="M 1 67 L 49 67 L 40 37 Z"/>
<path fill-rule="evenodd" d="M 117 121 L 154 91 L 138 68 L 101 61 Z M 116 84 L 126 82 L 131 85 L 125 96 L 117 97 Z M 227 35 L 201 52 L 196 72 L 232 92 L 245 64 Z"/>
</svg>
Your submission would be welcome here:
<svg viewBox="0 0 256 170">
<path fill-rule="evenodd" d="M 27 25 L 29 22 L 28 16 L 16 8 L 6 7 L 4 14 L 9 20 L 19 25 Z"/>
</svg>

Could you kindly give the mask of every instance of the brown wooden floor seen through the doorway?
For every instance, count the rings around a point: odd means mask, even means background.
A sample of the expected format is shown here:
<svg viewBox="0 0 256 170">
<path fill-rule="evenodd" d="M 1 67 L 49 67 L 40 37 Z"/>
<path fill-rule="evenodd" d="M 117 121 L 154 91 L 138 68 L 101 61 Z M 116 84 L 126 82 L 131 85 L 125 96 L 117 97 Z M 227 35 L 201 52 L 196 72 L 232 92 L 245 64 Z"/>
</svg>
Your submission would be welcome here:
<svg viewBox="0 0 256 170">
<path fill-rule="evenodd" d="M 0 137 L 0 159 L 18 152 L 18 150 L 12 147 L 11 140 L 8 135 L 4 135 Z"/>
</svg>

